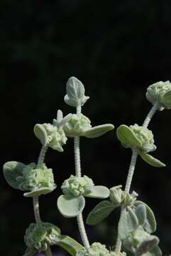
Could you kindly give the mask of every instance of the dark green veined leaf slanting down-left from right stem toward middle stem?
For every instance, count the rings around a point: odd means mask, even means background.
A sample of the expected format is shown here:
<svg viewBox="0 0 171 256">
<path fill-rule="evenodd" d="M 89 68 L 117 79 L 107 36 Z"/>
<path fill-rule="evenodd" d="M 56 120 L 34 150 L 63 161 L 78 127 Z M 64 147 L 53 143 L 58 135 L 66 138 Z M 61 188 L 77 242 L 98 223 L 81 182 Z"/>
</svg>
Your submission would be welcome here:
<svg viewBox="0 0 171 256">
<path fill-rule="evenodd" d="M 102 201 L 94 207 L 94 209 L 87 216 L 86 223 L 88 225 L 96 225 L 104 220 L 116 206 L 110 201 Z"/>
</svg>

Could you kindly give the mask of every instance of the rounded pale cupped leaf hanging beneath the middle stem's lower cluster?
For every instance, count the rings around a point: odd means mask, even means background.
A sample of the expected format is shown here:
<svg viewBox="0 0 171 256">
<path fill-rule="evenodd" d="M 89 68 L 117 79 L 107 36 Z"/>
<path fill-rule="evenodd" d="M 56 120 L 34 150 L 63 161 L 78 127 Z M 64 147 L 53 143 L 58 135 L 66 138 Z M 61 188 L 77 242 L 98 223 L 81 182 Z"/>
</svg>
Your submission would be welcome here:
<svg viewBox="0 0 171 256">
<path fill-rule="evenodd" d="M 72 218 L 79 215 L 85 206 L 85 199 L 83 196 L 69 197 L 62 195 L 57 198 L 57 208 L 60 213 L 66 218 Z"/>
</svg>

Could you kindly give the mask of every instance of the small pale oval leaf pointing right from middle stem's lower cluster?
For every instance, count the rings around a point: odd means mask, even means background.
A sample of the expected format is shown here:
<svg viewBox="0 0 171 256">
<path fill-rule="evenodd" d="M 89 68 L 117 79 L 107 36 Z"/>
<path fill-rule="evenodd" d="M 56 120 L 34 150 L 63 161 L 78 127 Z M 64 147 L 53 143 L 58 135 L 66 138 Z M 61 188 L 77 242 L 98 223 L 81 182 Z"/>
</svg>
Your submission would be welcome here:
<svg viewBox="0 0 171 256">
<path fill-rule="evenodd" d="M 106 188 L 105 186 L 93 186 L 91 191 L 84 196 L 89 198 L 108 198 L 109 193 L 109 188 Z"/>
</svg>

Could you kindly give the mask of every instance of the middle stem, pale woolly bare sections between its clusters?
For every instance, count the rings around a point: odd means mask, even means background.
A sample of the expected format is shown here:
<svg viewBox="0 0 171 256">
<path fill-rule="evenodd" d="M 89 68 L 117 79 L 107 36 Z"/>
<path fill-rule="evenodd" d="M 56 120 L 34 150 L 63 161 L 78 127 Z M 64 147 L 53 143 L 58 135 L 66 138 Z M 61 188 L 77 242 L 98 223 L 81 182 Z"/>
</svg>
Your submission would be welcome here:
<svg viewBox="0 0 171 256">
<path fill-rule="evenodd" d="M 82 107 L 81 106 L 77 107 L 77 115 L 81 114 L 81 112 L 82 112 Z M 80 142 L 79 136 L 76 136 L 75 142 L 74 142 L 75 174 L 76 174 L 76 176 L 81 177 L 82 169 L 81 169 L 79 142 Z M 87 238 L 87 233 L 86 233 L 86 230 L 84 227 L 84 220 L 82 218 L 82 213 L 79 213 L 79 215 L 77 215 L 77 224 L 78 224 L 78 228 L 79 228 L 79 233 L 82 238 L 82 243 L 83 243 L 84 247 L 86 248 L 86 250 L 89 250 L 89 240 Z"/>
</svg>

